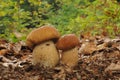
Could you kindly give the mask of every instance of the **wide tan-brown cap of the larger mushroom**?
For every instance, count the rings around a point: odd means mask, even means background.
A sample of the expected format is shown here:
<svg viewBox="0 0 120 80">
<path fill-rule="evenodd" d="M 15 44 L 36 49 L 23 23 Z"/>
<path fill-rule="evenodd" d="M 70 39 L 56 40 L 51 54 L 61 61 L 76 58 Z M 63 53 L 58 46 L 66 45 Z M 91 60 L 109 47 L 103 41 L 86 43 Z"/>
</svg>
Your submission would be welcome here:
<svg viewBox="0 0 120 80">
<path fill-rule="evenodd" d="M 30 32 L 27 36 L 26 44 L 29 47 L 33 47 L 43 41 L 50 39 L 58 39 L 60 37 L 59 32 L 52 26 L 42 26 Z"/>
</svg>

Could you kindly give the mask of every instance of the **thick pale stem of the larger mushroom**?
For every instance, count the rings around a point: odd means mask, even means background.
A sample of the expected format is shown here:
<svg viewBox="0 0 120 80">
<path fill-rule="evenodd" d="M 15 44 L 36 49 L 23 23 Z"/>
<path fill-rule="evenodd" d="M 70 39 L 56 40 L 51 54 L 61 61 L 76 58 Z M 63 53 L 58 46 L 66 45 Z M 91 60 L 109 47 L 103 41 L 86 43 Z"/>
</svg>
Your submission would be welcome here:
<svg viewBox="0 0 120 80">
<path fill-rule="evenodd" d="M 54 67 L 59 62 L 59 54 L 53 41 L 37 45 L 33 49 L 33 64 L 43 67 Z"/>
</svg>

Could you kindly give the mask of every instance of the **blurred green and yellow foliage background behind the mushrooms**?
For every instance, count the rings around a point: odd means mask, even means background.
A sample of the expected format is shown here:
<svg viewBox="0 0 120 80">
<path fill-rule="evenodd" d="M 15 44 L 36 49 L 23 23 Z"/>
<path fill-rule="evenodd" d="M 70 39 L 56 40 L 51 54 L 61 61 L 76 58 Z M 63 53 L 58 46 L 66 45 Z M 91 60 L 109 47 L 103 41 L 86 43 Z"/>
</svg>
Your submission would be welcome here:
<svg viewBox="0 0 120 80">
<path fill-rule="evenodd" d="M 0 0 L 0 38 L 25 40 L 43 25 L 60 33 L 120 34 L 119 0 Z"/>
</svg>

